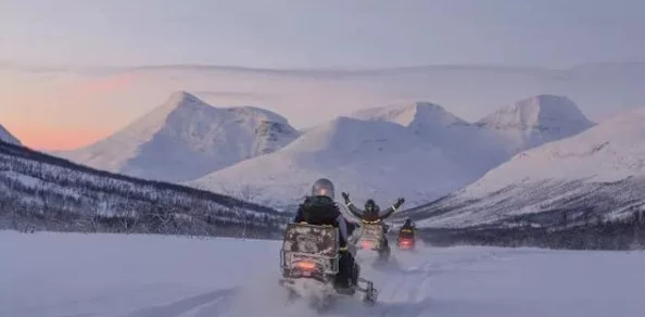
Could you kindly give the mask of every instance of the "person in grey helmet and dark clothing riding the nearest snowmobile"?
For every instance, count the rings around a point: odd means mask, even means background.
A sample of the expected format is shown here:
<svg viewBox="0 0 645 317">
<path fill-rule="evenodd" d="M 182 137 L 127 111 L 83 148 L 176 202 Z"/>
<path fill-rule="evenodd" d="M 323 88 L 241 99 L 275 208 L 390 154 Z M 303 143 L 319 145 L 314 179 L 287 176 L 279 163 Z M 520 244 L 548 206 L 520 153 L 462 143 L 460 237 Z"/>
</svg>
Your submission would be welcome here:
<svg viewBox="0 0 645 317">
<path fill-rule="evenodd" d="M 326 178 L 316 180 L 312 186 L 312 195 L 300 205 L 293 221 L 318 226 L 331 225 L 339 228 L 340 259 L 336 288 L 339 292 L 352 292 L 350 281 L 356 284 L 358 265 L 354 263 L 354 256 L 347 250 L 347 221 L 333 199 L 333 183 Z"/>
</svg>

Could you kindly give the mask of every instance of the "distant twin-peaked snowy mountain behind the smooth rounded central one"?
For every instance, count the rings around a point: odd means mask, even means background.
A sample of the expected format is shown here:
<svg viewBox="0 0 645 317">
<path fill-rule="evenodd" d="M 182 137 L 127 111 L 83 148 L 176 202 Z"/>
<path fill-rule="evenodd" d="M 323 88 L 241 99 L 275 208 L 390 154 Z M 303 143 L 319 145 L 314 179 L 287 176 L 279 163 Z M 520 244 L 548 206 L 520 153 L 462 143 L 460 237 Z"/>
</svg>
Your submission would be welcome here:
<svg viewBox="0 0 645 317">
<path fill-rule="evenodd" d="M 571 100 L 548 94 L 520 100 L 472 124 L 429 102 L 368 109 L 354 117 L 406 127 L 441 148 L 472 180 L 521 151 L 593 126 Z"/>
</svg>

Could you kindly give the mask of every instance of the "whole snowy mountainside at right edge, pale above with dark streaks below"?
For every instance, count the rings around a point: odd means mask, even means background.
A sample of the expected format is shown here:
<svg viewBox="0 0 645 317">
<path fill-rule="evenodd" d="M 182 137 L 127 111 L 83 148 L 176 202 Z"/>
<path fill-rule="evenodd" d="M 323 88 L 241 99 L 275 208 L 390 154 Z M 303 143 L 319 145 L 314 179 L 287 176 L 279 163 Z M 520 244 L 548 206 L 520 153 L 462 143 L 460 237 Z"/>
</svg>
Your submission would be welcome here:
<svg viewBox="0 0 645 317">
<path fill-rule="evenodd" d="M 540 225 L 645 210 L 645 109 L 522 152 L 481 179 L 407 214 L 429 227 Z"/>
</svg>

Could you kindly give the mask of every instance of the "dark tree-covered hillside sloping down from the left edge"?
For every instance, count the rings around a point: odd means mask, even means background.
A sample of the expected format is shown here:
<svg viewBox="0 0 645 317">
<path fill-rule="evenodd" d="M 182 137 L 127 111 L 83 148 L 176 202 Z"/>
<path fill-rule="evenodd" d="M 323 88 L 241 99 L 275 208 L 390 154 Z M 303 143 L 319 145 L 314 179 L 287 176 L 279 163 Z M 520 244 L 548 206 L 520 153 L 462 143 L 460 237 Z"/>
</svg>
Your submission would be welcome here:
<svg viewBox="0 0 645 317">
<path fill-rule="evenodd" d="M 289 215 L 0 141 L 0 229 L 281 238 Z"/>
</svg>

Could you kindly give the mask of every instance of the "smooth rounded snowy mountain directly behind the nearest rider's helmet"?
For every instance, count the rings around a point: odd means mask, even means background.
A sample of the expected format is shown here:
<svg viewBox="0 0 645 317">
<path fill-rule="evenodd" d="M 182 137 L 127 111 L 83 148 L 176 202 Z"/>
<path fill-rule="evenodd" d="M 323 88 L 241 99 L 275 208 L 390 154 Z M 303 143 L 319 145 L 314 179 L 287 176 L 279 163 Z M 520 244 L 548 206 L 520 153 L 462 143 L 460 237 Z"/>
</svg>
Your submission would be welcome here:
<svg viewBox="0 0 645 317">
<path fill-rule="evenodd" d="M 399 196 L 408 205 L 428 202 L 471 179 L 441 149 L 401 125 L 340 117 L 280 151 L 189 185 L 215 191 L 251 187 L 254 201 L 286 206 L 299 202 L 319 177 L 336 182 L 339 198 L 349 191 L 357 201 L 375 198 L 383 206 Z"/>
</svg>

